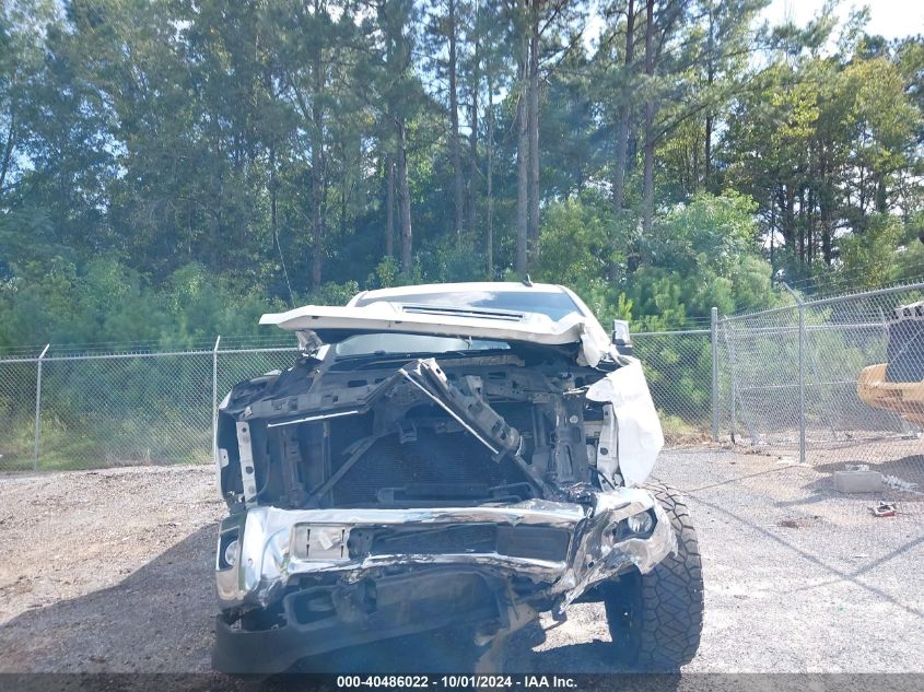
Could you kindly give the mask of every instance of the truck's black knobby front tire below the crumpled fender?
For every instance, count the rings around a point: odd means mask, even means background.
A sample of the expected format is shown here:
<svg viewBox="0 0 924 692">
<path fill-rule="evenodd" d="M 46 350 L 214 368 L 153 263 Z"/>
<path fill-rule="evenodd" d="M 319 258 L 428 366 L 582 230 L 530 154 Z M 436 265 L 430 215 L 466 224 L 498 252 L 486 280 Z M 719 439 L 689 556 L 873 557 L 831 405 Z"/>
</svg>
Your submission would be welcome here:
<svg viewBox="0 0 924 692">
<path fill-rule="evenodd" d="M 677 535 L 677 554 L 648 574 L 620 576 L 603 588 L 613 655 L 633 670 L 677 670 L 690 662 L 703 629 L 703 572 L 697 532 L 680 493 L 645 485 L 664 507 Z"/>
</svg>

